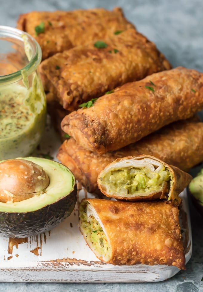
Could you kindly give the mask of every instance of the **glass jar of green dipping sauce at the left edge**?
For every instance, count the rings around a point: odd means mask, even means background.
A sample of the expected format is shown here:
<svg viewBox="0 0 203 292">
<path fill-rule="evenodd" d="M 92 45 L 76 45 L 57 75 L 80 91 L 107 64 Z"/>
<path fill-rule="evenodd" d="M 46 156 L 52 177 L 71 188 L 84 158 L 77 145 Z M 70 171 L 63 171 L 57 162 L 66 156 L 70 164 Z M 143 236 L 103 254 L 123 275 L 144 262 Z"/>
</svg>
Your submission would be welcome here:
<svg viewBox="0 0 203 292">
<path fill-rule="evenodd" d="M 34 38 L 0 26 L 0 160 L 30 155 L 43 135 L 46 98 L 40 62 Z"/>
</svg>

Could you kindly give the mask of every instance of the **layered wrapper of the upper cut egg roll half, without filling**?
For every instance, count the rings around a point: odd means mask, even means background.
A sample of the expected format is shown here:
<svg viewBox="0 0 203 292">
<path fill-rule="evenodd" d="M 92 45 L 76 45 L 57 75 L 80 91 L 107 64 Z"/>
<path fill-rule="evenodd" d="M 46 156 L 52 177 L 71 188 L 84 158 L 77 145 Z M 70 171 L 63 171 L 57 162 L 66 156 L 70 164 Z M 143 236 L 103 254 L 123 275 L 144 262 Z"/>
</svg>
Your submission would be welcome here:
<svg viewBox="0 0 203 292">
<path fill-rule="evenodd" d="M 107 190 L 106 184 L 103 182 L 102 178 L 104 175 L 110 170 L 119 170 L 125 167 L 131 167 L 133 164 L 136 165 L 136 162 L 141 162 L 141 164 L 145 164 L 146 160 L 149 166 L 150 164 L 157 166 L 157 162 L 161 165 L 164 165 L 166 170 L 170 172 L 170 189 L 167 187 L 167 183 L 163 186 L 162 191 L 152 191 L 150 194 L 144 196 L 140 194 L 138 191 L 135 194 L 126 194 L 121 196 L 120 194 L 112 193 Z M 154 163 L 154 164 L 153 164 Z M 119 166 L 117 166 L 119 164 Z M 140 164 L 140 163 L 139 163 Z M 146 166 L 147 167 L 147 166 Z M 142 165 L 140 166 L 142 168 Z M 169 165 L 164 161 L 153 157 L 151 155 L 139 155 L 137 157 L 128 156 L 123 158 L 117 158 L 112 163 L 108 164 L 102 172 L 98 174 L 97 184 L 99 186 L 100 191 L 107 197 L 113 197 L 115 199 L 120 200 L 130 200 L 130 201 L 138 201 L 138 200 L 155 200 L 155 199 L 167 199 L 173 201 L 174 204 L 179 205 L 181 203 L 181 199 L 179 194 L 184 190 L 184 188 L 190 183 L 192 177 L 187 172 L 183 172 L 179 168 L 173 165 Z"/>
</svg>

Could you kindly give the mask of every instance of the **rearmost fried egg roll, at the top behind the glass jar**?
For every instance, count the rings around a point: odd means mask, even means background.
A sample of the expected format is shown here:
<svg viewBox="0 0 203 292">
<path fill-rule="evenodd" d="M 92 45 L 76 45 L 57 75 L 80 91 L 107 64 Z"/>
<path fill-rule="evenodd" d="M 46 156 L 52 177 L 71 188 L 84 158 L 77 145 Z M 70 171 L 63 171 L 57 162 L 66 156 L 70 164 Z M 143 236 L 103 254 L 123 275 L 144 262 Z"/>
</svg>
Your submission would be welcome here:
<svg viewBox="0 0 203 292">
<path fill-rule="evenodd" d="M 44 23 L 43 32 L 36 35 L 35 27 Z M 116 31 L 133 28 L 121 8 L 74 11 L 32 11 L 19 16 L 17 28 L 39 43 L 42 59 L 93 40 L 104 39 Z"/>
</svg>

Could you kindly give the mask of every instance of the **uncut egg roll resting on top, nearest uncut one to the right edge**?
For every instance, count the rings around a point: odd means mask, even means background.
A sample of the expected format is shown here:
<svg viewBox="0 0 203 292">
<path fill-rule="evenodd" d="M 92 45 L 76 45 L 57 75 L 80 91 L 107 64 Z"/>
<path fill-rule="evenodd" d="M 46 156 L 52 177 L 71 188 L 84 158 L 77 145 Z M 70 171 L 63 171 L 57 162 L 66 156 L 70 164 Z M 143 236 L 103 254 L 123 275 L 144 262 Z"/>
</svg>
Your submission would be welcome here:
<svg viewBox="0 0 203 292">
<path fill-rule="evenodd" d="M 177 67 L 116 88 L 90 108 L 71 112 L 61 127 L 85 149 L 104 154 L 201 109 L 203 73 Z"/>
</svg>

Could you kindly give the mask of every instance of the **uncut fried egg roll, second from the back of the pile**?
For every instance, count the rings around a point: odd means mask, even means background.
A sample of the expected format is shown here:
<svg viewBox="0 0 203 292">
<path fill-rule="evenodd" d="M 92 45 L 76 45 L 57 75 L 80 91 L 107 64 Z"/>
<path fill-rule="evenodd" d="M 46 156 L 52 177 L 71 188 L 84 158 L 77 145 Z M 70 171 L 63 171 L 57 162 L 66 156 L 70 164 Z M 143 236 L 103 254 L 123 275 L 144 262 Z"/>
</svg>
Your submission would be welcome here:
<svg viewBox="0 0 203 292">
<path fill-rule="evenodd" d="M 94 44 L 58 53 L 40 65 L 44 89 L 54 92 L 64 109 L 73 111 L 117 86 L 171 68 L 155 44 L 133 28 L 112 34 L 106 48 Z"/>
</svg>

